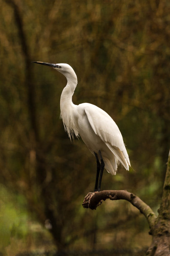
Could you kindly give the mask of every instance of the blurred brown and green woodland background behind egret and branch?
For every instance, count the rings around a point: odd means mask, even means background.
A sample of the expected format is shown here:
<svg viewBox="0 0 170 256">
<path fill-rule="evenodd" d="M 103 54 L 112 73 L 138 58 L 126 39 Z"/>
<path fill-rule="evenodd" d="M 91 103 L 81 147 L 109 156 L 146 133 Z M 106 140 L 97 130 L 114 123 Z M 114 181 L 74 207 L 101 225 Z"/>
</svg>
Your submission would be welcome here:
<svg viewBox="0 0 170 256">
<path fill-rule="evenodd" d="M 101 189 L 127 189 L 157 212 L 170 145 L 170 1 L 2 0 L 0 10 L 0 253 L 143 255 L 152 237 L 132 205 L 82 207 L 95 158 L 64 131 L 65 77 L 31 61 L 74 68 L 74 104 L 111 115 L 134 169 L 104 171 Z"/>
</svg>

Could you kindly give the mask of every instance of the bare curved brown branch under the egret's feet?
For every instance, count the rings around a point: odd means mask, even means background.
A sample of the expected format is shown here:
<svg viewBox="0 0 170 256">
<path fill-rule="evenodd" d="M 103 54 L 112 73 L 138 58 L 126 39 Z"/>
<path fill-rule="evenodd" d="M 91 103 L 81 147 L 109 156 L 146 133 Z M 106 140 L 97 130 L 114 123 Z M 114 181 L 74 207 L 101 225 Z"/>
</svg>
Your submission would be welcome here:
<svg viewBox="0 0 170 256">
<path fill-rule="evenodd" d="M 150 228 L 152 230 L 152 227 L 155 224 L 156 215 L 152 211 L 152 209 L 143 202 L 139 197 L 134 195 L 133 193 L 130 193 L 126 190 L 103 190 L 100 192 L 93 192 L 88 193 L 83 201 L 83 207 L 84 208 L 90 208 L 91 210 L 96 209 L 99 205 L 101 205 L 102 200 L 127 200 L 130 202 L 134 207 L 140 210 L 140 212 L 145 215 Z"/>
</svg>

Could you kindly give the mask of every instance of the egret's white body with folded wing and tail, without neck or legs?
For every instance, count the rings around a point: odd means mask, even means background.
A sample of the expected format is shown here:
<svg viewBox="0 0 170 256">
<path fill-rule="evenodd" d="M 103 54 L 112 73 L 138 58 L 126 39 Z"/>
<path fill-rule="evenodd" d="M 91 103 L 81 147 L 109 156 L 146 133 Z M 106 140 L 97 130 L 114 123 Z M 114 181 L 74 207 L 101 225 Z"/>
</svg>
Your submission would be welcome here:
<svg viewBox="0 0 170 256">
<path fill-rule="evenodd" d="M 119 162 L 128 170 L 129 157 L 114 120 L 95 105 L 84 103 L 78 107 L 83 115 L 78 120 L 79 134 L 89 150 L 93 154 L 101 151 L 105 169 L 112 175 L 116 174 Z"/>
</svg>

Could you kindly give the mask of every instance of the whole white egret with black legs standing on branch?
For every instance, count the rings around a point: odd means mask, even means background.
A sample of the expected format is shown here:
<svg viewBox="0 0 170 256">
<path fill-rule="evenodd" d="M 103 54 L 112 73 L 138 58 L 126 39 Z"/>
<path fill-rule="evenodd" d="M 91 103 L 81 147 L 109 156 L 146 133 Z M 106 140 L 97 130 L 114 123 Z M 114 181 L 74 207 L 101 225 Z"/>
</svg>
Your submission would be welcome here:
<svg viewBox="0 0 170 256">
<path fill-rule="evenodd" d="M 64 128 L 69 138 L 81 136 L 96 157 L 97 173 L 94 191 L 100 191 L 104 168 L 112 175 L 121 163 L 129 170 L 130 161 L 124 146 L 122 134 L 114 120 L 101 108 L 89 103 L 74 105 L 72 96 L 77 85 L 76 73 L 69 64 L 51 64 L 41 61 L 34 63 L 53 67 L 67 79 L 61 93 L 60 108 Z"/>
</svg>

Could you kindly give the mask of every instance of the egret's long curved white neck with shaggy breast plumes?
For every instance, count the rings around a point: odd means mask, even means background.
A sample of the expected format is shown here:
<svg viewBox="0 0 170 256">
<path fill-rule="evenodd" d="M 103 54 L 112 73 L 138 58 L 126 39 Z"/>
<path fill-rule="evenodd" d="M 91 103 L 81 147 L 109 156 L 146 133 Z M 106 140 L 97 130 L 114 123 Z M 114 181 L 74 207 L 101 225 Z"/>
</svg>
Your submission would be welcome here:
<svg viewBox="0 0 170 256">
<path fill-rule="evenodd" d="M 65 77 L 67 79 L 67 84 L 61 93 L 60 109 L 65 130 L 71 139 L 71 136 L 73 137 L 73 132 L 78 136 L 78 131 L 74 121 L 74 109 L 76 105 L 72 102 L 72 96 L 77 85 L 77 77 L 76 74 L 74 76 L 73 74 L 71 74 L 71 76 L 68 74 L 67 76 L 65 75 Z"/>
</svg>

